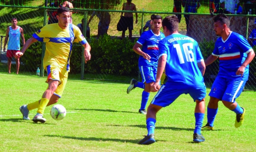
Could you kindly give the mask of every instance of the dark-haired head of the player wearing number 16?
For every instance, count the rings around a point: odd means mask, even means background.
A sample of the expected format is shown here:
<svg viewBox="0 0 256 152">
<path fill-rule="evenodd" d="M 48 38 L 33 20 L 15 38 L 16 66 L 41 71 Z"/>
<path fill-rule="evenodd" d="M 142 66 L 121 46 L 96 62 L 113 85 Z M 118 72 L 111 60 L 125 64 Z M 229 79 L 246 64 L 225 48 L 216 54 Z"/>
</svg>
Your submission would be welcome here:
<svg viewBox="0 0 256 152">
<path fill-rule="evenodd" d="M 179 19 L 176 17 L 176 15 L 169 15 L 163 19 L 162 26 L 165 26 L 172 33 L 178 31 Z"/>
</svg>

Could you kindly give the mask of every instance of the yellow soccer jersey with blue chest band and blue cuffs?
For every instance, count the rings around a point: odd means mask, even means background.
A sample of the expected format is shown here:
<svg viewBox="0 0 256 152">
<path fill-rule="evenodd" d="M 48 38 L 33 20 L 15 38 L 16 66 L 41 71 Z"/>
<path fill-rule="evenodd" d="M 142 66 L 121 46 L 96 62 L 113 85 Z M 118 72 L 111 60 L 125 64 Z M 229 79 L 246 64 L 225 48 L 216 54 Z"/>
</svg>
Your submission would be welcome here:
<svg viewBox="0 0 256 152">
<path fill-rule="evenodd" d="M 73 24 L 69 24 L 67 29 L 60 28 L 58 23 L 45 25 L 32 36 L 40 42 L 46 42 L 44 68 L 58 65 L 67 68 L 67 71 L 70 70 L 73 42 L 80 42 L 81 45 L 87 43 L 80 29 Z"/>
</svg>

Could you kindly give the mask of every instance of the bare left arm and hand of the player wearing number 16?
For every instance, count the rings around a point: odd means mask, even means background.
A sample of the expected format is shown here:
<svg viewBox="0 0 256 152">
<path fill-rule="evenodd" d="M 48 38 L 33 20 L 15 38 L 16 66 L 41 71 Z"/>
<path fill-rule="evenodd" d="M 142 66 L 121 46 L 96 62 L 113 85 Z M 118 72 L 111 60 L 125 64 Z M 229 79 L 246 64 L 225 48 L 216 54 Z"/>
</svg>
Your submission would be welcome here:
<svg viewBox="0 0 256 152">
<path fill-rule="evenodd" d="M 166 58 L 167 56 L 163 55 L 158 59 L 157 78 L 154 84 L 151 86 L 151 92 L 157 92 L 160 89 L 160 80 L 166 66 Z"/>
</svg>

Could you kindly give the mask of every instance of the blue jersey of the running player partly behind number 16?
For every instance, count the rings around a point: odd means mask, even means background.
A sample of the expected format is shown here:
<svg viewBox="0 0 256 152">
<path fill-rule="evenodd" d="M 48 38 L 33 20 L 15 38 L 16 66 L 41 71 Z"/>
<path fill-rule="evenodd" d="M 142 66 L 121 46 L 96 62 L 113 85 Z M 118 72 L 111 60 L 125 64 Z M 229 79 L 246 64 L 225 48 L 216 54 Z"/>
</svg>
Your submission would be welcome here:
<svg viewBox="0 0 256 152">
<path fill-rule="evenodd" d="M 142 51 L 151 56 L 151 59 L 148 61 L 143 58 L 143 56 L 139 57 L 139 66 L 149 66 L 154 65 L 158 61 L 158 42 L 163 39 L 165 36 L 162 32 L 159 35 L 156 35 L 150 31 L 145 31 L 141 34 L 140 39 L 138 39 L 137 43 L 142 45 Z"/>
</svg>

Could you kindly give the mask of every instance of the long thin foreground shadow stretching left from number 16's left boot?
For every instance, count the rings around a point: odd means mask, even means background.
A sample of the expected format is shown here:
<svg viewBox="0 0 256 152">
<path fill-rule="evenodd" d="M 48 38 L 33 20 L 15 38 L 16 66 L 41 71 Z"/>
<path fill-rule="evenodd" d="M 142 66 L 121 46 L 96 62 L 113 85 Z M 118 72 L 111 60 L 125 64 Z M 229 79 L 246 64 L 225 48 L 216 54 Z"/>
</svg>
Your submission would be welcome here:
<svg viewBox="0 0 256 152">
<path fill-rule="evenodd" d="M 67 139 L 76 139 L 81 141 L 116 141 L 116 142 L 122 142 L 122 143 L 133 143 L 137 144 L 138 140 L 130 140 L 130 139 L 117 139 L 117 138 L 85 138 L 85 137 L 72 137 L 72 136 L 61 136 L 61 135 L 44 135 L 47 137 L 59 137 L 59 138 L 67 138 Z"/>
</svg>

